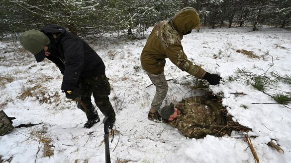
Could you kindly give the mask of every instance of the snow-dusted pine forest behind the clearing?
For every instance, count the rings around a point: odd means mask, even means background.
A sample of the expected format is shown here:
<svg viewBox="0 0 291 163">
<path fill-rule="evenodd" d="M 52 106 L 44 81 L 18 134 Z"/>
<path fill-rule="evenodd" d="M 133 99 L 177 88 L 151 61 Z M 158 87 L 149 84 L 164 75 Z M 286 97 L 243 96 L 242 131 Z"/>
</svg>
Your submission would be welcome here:
<svg viewBox="0 0 291 163">
<path fill-rule="evenodd" d="M 144 39 L 148 27 L 186 6 L 209 28 L 291 27 L 291 0 L 1 0 L 0 39 L 48 24 L 83 39 Z"/>
</svg>

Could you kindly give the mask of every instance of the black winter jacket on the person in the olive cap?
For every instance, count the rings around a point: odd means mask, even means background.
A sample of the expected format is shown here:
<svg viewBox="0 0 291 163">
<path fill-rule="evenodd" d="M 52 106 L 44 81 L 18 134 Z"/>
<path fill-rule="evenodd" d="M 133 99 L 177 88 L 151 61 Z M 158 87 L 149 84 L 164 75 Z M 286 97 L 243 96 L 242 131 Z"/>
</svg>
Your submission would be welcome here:
<svg viewBox="0 0 291 163">
<path fill-rule="evenodd" d="M 47 25 L 40 31 L 50 39 L 50 55 L 46 58 L 54 62 L 64 75 L 62 90 L 74 90 L 79 78 L 92 78 L 105 74 L 102 59 L 84 40 L 58 25 Z M 57 34 L 56 39 L 53 33 Z"/>
</svg>

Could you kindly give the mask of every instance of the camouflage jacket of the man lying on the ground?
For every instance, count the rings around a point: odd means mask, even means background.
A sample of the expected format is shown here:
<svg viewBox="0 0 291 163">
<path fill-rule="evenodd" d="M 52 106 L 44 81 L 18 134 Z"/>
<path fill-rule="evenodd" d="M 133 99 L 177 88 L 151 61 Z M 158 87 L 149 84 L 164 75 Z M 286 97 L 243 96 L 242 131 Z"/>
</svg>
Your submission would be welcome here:
<svg viewBox="0 0 291 163">
<path fill-rule="evenodd" d="M 223 116 L 221 104 L 202 97 L 191 97 L 176 105 L 181 114 L 168 123 L 189 138 L 203 138 L 206 135 L 230 135 L 231 129 L 226 127 L 226 116 Z"/>
</svg>

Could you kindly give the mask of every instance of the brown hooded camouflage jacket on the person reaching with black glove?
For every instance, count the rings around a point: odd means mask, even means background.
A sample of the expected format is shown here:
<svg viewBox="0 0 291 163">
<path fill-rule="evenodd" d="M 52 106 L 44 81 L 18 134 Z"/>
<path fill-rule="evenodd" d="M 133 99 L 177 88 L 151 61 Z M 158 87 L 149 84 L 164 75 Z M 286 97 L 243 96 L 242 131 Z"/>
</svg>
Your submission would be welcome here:
<svg viewBox="0 0 291 163">
<path fill-rule="evenodd" d="M 183 51 L 183 34 L 199 26 L 199 15 L 192 7 L 180 10 L 170 21 L 161 21 L 153 28 L 141 53 L 143 69 L 152 74 L 164 71 L 165 58 L 169 58 L 182 71 L 202 78 L 205 71 L 188 60 Z"/>
</svg>

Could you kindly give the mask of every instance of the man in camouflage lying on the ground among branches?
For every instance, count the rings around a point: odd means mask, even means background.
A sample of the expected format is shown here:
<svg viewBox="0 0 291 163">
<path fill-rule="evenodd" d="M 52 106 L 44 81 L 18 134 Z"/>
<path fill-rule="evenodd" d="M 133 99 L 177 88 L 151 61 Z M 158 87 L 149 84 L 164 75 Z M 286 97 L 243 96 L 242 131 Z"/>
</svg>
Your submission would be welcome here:
<svg viewBox="0 0 291 163">
<path fill-rule="evenodd" d="M 224 110 L 216 97 L 205 95 L 184 99 L 176 107 L 165 106 L 161 115 L 165 123 L 176 127 L 189 138 L 230 135 L 232 130 L 251 130 L 234 122 Z"/>
</svg>

